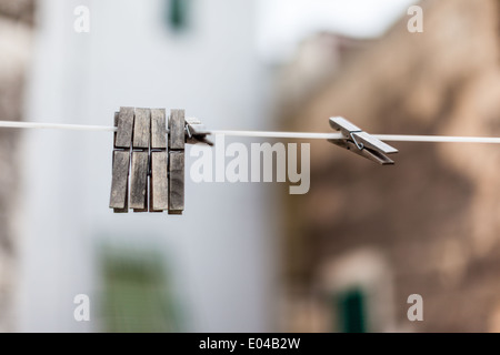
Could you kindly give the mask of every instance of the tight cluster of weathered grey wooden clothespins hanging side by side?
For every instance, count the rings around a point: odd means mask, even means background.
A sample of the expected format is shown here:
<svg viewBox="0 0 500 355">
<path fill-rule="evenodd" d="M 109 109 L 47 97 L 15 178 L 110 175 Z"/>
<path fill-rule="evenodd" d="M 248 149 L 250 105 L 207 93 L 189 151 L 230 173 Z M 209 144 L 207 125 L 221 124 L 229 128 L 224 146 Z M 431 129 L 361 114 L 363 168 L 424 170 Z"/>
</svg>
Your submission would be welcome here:
<svg viewBox="0 0 500 355">
<path fill-rule="evenodd" d="M 184 144 L 211 145 L 204 126 L 183 110 L 133 108 L 116 112 L 114 126 L 110 209 L 182 214 Z"/>
</svg>

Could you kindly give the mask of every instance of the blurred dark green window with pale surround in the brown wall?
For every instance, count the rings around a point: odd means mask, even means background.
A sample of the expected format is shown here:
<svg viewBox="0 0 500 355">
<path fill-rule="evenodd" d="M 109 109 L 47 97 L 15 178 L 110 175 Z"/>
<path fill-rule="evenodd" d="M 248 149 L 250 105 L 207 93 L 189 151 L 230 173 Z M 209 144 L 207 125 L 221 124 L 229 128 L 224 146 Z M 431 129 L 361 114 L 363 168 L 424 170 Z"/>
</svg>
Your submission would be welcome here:
<svg viewBox="0 0 500 355">
<path fill-rule="evenodd" d="M 318 268 L 323 331 L 380 333 L 394 329 L 392 268 L 383 253 L 359 248 Z"/>
</svg>

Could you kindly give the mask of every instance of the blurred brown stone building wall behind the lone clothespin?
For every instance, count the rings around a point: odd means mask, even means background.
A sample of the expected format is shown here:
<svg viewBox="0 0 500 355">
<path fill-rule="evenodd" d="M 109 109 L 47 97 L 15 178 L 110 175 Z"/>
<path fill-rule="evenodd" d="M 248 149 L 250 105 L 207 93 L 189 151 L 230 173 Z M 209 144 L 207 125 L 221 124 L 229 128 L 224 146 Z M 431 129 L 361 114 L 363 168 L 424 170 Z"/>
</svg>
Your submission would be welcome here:
<svg viewBox="0 0 500 355">
<path fill-rule="evenodd" d="M 498 1 L 421 6 L 423 33 L 403 18 L 284 111 L 287 129 L 329 131 L 342 115 L 372 133 L 498 136 Z M 393 145 L 394 166 L 312 146 L 311 190 L 284 204 L 286 329 L 500 328 L 498 148 Z M 423 322 L 407 318 L 411 294 Z"/>
</svg>

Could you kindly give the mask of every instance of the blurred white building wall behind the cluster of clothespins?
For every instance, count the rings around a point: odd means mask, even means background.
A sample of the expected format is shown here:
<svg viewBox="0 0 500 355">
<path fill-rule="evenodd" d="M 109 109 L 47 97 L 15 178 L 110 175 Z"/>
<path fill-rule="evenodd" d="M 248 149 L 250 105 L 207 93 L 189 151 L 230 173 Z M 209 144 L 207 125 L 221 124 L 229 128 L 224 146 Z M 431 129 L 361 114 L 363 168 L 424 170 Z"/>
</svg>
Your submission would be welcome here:
<svg viewBox="0 0 500 355">
<path fill-rule="evenodd" d="M 266 129 L 253 2 L 189 1 L 186 28 L 177 27 L 178 19 L 172 28 L 171 2 L 41 1 L 30 120 L 111 125 L 113 112 L 130 105 L 183 108 L 213 129 Z M 90 9 L 90 33 L 73 31 L 73 10 L 81 4 Z M 267 187 L 194 184 L 188 150 L 182 216 L 113 214 L 111 151 L 106 132 L 27 135 L 23 217 L 30 224 L 23 231 L 20 329 L 110 329 L 102 310 L 109 286 L 102 245 L 160 254 L 178 329 L 271 329 Z M 77 294 L 90 296 L 91 322 L 73 318 Z"/>
</svg>

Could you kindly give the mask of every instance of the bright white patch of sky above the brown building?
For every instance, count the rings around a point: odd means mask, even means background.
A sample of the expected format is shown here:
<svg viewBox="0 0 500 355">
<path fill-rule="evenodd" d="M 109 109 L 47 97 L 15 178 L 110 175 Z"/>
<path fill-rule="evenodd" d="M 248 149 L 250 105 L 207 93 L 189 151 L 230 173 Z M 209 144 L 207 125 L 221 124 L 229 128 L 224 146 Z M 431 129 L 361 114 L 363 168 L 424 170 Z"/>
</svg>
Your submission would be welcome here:
<svg viewBox="0 0 500 355">
<path fill-rule="evenodd" d="M 258 48 L 267 61 L 290 60 L 308 37 L 332 31 L 358 38 L 383 34 L 419 0 L 259 0 Z"/>
</svg>

